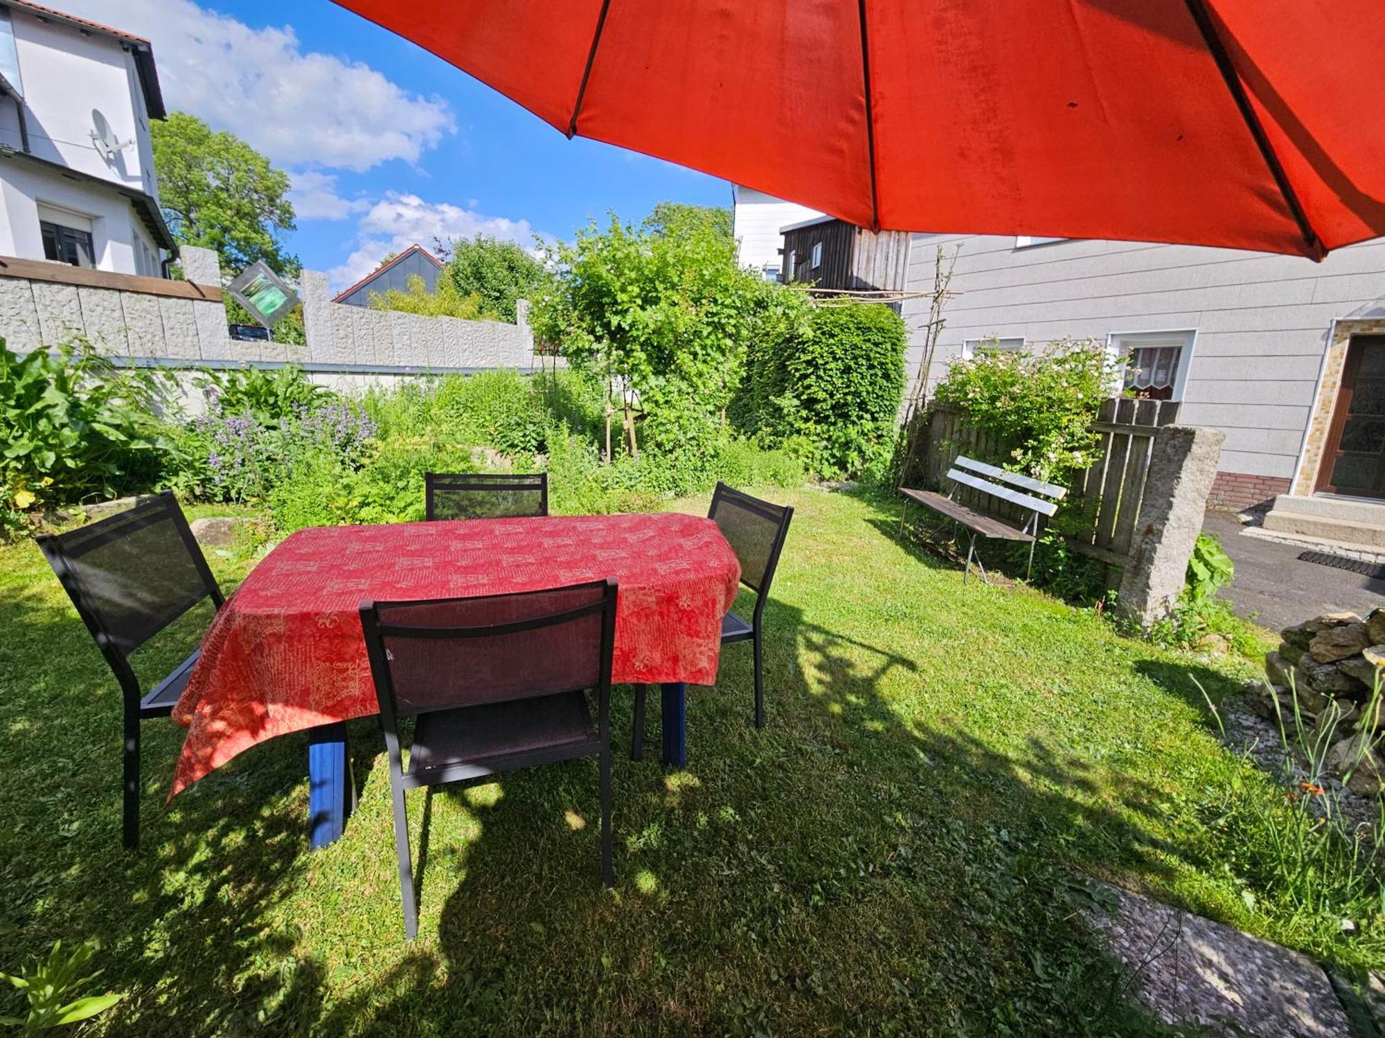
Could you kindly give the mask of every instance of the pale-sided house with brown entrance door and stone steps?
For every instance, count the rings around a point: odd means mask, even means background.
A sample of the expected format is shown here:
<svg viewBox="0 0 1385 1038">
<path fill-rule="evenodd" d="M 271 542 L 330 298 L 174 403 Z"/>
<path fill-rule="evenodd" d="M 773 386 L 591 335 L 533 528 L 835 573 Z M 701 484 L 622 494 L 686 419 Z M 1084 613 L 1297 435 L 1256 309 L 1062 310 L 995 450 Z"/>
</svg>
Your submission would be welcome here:
<svg viewBox="0 0 1385 1038">
<path fill-rule="evenodd" d="M 1385 239 L 1323 263 L 1187 245 L 917 234 L 906 288 L 957 253 L 931 379 L 989 338 L 1094 338 L 1145 394 L 1226 432 L 1213 502 L 1266 529 L 1385 547 Z M 914 370 L 928 300 L 904 302 Z"/>
</svg>

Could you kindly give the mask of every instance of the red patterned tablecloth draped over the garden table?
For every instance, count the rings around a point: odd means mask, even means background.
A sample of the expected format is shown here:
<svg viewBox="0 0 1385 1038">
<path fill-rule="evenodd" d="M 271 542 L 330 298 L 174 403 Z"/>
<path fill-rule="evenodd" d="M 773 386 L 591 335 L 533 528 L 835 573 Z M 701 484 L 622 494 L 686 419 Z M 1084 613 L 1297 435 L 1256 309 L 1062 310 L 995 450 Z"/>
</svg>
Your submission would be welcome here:
<svg viewBox="0 0 1385 1038">
<path fill-rule="evenodd" d="M 612 680 L 711 685 L 741 567 L 709 519 L 587 515 L 299 530 L 212 623 L 173 793 L 285 732 L 377 713 L 357 606 L 620 583 Z"/>
</svg>

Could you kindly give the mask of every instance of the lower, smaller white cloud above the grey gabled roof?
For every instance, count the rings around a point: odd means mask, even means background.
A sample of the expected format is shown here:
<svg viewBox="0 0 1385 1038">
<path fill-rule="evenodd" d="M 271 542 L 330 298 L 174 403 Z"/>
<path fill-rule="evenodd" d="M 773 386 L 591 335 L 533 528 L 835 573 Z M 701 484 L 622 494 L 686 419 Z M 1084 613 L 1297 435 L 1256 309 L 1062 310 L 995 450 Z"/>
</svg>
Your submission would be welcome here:
<svg viewBox="0 0 1385 1038">
<path fill-rule="evenodd" d="M 403 252 L 410 245 L 422 245 L 432 252 L 434 239 L 486 234 L 529 248 L 536 237 L 548 237 L 535 231 L 528 220 L 486 216 L 476 212 L 475 199 L 468 202 L 464 209 L 452 202 L 425 202 L 418 195 L 386 192 L 361 216 L 352 255 L 345 263 L 327 271 L 332 291 L 339 292 L 356 284 L 391 252 Z"/>
</svg>

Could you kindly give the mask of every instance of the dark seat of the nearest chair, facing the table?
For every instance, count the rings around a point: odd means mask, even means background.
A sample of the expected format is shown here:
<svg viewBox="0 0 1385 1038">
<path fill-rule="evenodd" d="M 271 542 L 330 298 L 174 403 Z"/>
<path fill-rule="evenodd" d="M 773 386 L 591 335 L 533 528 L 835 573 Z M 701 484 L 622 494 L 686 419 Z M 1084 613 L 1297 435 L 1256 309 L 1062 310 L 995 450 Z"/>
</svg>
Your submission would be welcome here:
<svg viewBox="0 0 1385 1038">
<path fill-rule="evenodd" d="M 457 782 L 600 749 L 583 692 L 438 710 L 414 722 L 404 779 Z"/>
</svg>

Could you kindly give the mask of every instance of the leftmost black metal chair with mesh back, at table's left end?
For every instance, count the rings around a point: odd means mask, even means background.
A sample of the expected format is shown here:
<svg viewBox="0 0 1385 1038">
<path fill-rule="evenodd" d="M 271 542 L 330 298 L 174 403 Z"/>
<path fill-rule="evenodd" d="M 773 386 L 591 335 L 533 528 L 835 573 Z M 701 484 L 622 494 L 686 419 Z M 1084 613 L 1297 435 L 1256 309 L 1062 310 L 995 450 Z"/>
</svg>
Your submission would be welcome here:
<svg viewBox="0 0 1385 1038">
<path fill-rule="evenodd" d="M 91 631 L 125 698 L 125 846 L 140 843 L 140 721 L 173 713 L 201 649 L 148 692 L 130 655 L 222 590 L 183 509 L 165 491 L 134 508 L 64 534 L 40 536 L 53 572 Z"/>
</svg>

